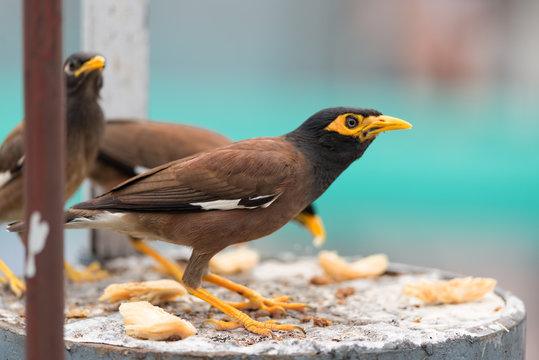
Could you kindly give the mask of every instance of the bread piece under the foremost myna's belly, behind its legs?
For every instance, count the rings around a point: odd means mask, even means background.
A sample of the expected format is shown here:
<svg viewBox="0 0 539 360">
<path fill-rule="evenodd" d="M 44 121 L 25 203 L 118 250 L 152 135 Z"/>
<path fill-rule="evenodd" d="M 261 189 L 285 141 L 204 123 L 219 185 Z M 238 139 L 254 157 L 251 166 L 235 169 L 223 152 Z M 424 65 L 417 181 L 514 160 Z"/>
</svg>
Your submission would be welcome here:
<svg viewBox="0 0 539 360">
<path fill-rule="evenodd" d="M 210 270 L 220 275 L 233 275 L 253 269 L 260 260 L 258 253 L 246 246 L 225 251 L 210 260 Z"/>
</svg>

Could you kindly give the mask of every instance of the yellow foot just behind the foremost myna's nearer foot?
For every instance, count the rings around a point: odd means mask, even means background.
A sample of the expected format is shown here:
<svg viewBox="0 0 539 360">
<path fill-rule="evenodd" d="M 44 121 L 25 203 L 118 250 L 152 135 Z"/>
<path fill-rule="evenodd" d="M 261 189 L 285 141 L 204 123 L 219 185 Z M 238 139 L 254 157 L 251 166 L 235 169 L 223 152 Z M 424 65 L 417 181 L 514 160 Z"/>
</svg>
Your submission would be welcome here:
<svg viewBox="0 0 539 360">
<path fill-rule="evenodd" d="M 267 313 L 271 317 L 280 318 L 286 315 L 287 310 L 304 311 L 307 304 L 288 302 L 288 296 L 278 296 L 268 299 L 251 290 L 249 294 L 244 294 L 248 301 L 230 302 L 229 305 L 238 310 L 259 310 Z"/>
</svg>

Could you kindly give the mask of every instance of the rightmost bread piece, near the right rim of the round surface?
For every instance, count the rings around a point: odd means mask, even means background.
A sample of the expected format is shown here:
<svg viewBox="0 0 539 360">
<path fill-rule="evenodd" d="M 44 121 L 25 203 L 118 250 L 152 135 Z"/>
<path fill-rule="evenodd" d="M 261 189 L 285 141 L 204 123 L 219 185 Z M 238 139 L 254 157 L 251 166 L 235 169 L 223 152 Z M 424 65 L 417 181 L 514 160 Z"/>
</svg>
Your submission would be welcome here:
<svg viewBox="0 0 539 360">
<path fill-rule="evenodd" d="M 494 279 L 465 277 L 407 284 L 404 294 L 426 304 L 461 304 L 480 300 L 495 287 Z"/>
</svg>

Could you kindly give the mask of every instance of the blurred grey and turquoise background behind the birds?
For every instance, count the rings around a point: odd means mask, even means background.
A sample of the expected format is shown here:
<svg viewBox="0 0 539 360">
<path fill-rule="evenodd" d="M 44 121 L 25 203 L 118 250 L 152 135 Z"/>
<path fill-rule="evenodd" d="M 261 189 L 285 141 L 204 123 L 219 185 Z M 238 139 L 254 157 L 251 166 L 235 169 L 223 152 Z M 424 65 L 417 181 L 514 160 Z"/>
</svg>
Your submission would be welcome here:
<svg viewBox="0 0 539 360">
<path fill-rule="evenodd" d="M 65 1 L 66 54 L 79 48 L 79 7 Z M 161 0 L 148 21 L 154 119 L 233 139 L 335 105 L 412 122 L 317 202 L 326 247 L 497 278 L 525 300 L 539 357 L 539 2 Z M 23 116 L 18 0 L 0 0 L 0 46 L 3 139 Z M 69 258 L 82 237 L 69 234 Z M 316 253 L 295 225 L 255 246 Z M 4 232 L 0 256 L 21 269 Z"/>
</svg>

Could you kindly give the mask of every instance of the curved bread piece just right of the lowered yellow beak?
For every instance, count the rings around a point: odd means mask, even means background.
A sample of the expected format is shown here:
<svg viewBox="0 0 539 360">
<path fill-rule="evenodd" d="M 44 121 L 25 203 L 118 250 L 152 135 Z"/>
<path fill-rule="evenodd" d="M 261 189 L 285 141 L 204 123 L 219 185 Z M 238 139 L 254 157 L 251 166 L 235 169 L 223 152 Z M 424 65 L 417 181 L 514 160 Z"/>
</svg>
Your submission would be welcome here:
<svg viewBox="0 0 539 360">
<path fill-rule="evenodd" d="M 389 264 L 384 254 L 367 256 L 350 263 L 333 251 L 321 251 L 318 262 L 324 272 L 337 282 L 382 275 Z"/>
</svg>

